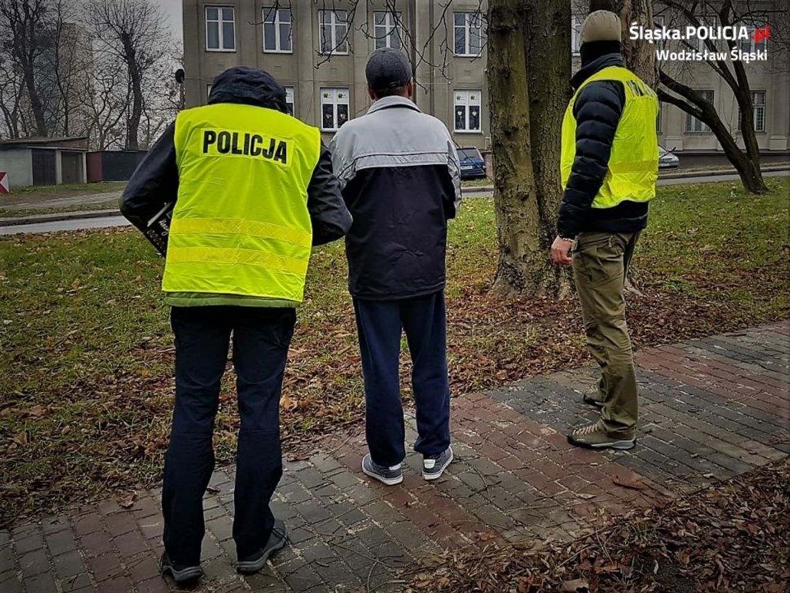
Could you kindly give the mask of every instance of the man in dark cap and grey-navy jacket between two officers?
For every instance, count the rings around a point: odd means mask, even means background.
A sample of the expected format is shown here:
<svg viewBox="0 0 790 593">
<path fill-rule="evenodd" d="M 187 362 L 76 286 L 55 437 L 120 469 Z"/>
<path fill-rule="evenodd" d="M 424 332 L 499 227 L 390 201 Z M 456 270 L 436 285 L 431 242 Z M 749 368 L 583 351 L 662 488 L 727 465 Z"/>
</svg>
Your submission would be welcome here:
<svg viewBox="0 0 790 593">
<path fill-rule="evenodd" d="M 335 135 L 335 175 L 354 222 L 346 238 L 370 449 L 362 470 L 403 481 L 404 418 L 398 362 L 405 330 L 423 477 L 453 460 L 444 300 L 447 220 L 461 201 L 453 140 L 412 102 L 412 66 L 401 51 L 375 51 L 365 69 L 374 103 Z"/>
</svg>

